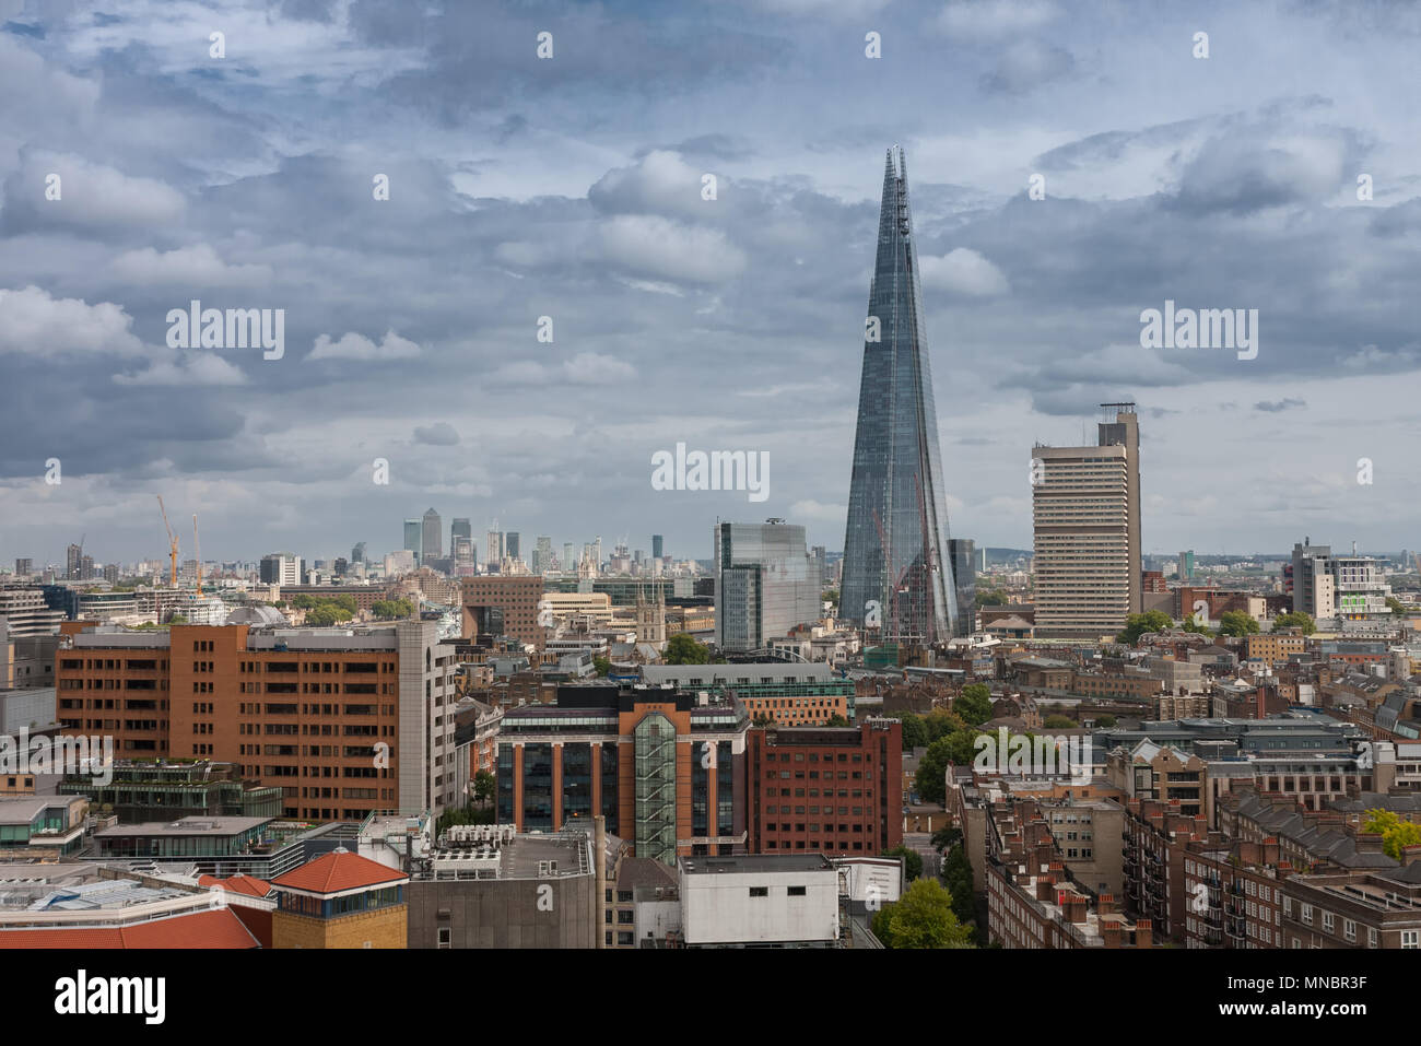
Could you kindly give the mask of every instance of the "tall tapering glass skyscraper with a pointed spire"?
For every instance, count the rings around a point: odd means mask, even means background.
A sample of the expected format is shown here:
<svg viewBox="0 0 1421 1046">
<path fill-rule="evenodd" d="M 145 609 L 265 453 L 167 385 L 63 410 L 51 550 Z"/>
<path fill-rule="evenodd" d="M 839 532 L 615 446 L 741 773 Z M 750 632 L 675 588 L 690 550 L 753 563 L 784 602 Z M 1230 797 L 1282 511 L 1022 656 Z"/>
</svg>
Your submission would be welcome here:
<svg viewBox="0 0 1421 1046">
<path fill-rule="evenodd" d="M 868 287 L 840 615 L 907 645 L 958 624 L 908 163 L 890 149 Z"/>
</svg>

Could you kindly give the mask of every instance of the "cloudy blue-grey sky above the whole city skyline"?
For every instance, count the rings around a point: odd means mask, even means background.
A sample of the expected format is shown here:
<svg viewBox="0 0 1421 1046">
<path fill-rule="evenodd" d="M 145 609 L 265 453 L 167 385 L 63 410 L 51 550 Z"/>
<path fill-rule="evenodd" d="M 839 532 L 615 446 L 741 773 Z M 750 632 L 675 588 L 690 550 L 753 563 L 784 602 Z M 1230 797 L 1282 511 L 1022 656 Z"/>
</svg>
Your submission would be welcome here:
<svg viewBox="0 0 1421 1046">
<path fill-rule="evenodd" d="M 955 536 L 1029 547 L 1033 442 L 1135 399 L 1145 551 L 1417 547 L 1421 14 L 1188 7 L 0 0 L 0 561 L 159 557 L 155 493 L 205 559 L 838 550 L 892 144 Z M 169 348 L 192 298 L 284 357 Z M 1258 358 L 1142 348 L 1165 300 Z M 769 500 L 654 490 L 676 442 Z"/>
</svg>

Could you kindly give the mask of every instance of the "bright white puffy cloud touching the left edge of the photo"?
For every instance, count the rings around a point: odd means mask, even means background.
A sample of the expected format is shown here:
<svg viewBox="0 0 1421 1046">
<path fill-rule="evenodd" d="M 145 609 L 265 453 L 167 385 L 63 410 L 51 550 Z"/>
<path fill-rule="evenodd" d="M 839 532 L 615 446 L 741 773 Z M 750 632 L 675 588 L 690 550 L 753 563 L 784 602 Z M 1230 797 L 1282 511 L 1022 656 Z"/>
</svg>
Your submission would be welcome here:
<svg viewBox="0 0 1421 1046">
<path fill-rule="evenodd" d="M 0 352 L 135 355 L 144 344 L 129 331 L 132 323 L 112 301 L 91 306 L 34 286 L 0 290 Z"/>
</svg>

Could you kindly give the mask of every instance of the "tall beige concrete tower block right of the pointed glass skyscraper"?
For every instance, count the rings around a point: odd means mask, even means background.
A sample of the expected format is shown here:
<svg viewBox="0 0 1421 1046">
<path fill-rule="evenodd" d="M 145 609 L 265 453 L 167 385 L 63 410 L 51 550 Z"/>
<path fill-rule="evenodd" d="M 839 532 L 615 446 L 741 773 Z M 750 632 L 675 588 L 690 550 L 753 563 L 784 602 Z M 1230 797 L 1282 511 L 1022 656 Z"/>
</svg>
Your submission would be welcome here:
<svg viewBox="0 0 1421 1046">
<path fill-rule="evenodd" d="M 1138 416 L 1101 411 L 1097 446 L 1032 449 L 1037 638 L 1114 637 L 1140 613 Z"/>
</svg>

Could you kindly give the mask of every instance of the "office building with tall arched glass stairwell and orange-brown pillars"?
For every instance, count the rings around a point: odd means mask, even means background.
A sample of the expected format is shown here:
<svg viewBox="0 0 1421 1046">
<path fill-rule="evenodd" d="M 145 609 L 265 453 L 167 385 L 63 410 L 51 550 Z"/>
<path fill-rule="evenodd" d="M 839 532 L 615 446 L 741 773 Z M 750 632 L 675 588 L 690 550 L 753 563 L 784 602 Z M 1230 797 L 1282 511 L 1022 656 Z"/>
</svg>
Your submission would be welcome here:
<svg viewBox="0 0 1421 1046">
<path fill-rule="evenodd" d="M 560 831 L 600 814 L 637 857 L 730 854 L 745 843 L 749 723 L 743 706 L 686 691 L 558 686 L 554 705 L 503 715 L 499 824 Z"/>
</svg>

